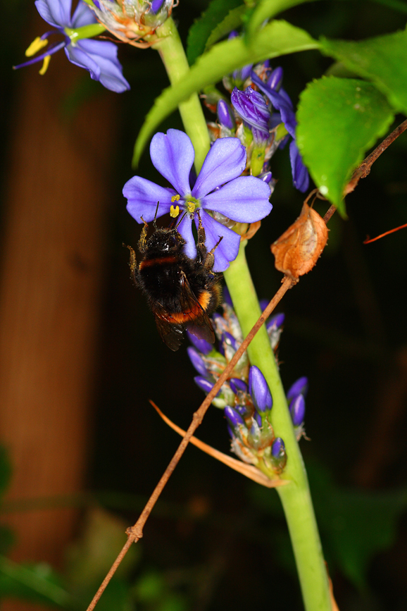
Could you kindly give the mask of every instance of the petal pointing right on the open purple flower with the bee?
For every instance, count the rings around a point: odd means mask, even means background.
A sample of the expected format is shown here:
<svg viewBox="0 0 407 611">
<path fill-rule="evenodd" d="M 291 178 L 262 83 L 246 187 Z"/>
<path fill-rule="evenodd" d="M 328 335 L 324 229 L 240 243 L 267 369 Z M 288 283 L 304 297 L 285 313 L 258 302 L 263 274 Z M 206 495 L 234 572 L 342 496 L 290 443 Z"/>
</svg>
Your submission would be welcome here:
<svg viewBox="0 0 407 611">
<path fill-rule="evenodd" d="M 254 223 L 270 214 L 273 207 L 268 201 L 270 193 L 270 187 L 260 178 L 239 176 L 204 197 L 201 204 L 233 221 Z"/>
</svg>

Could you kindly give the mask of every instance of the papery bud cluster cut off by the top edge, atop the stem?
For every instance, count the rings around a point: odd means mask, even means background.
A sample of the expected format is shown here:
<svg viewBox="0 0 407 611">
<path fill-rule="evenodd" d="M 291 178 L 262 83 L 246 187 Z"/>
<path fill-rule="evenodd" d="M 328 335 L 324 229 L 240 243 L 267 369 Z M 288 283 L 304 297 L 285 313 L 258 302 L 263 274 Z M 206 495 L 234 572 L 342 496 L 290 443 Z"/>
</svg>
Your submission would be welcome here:
<svg viewBox="0 0 407 611">
<path fill-rule="evenodd" d="M 156 28 L 173 11 L 174 0 L 86 0 L 97 20 L 134 47 L 149 47 Z"/>
</svg>

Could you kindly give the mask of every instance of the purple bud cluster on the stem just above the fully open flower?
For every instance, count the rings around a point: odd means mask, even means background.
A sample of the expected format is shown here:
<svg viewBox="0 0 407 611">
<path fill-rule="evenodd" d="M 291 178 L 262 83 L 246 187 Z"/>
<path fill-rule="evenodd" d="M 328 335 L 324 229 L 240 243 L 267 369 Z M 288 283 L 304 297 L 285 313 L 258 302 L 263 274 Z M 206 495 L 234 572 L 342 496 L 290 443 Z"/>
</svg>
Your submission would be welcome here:
<svg viewBox="0 0 407 611">
<path fill-rule="evenodd" d="M 236 36 L 232 32 L 231 37 Z M 216 111 L 218 121 L 209 123 L 213 140 L 236 136 L 247 152 L 246 173 L 258 176 L 273 190 L 270 159 L 289 140 L 289 154 L 294 187 L 305 192 L 309 175 L 302 163 L 295 141 L 296 117 L 292 101 L 282 87 L 283 70 L 273 70 L 269 61 L 249 64 L 223 79 L 230 92 L 230 102 L 217 92 L 206 97 L 206 104 Z"/>
</svg>

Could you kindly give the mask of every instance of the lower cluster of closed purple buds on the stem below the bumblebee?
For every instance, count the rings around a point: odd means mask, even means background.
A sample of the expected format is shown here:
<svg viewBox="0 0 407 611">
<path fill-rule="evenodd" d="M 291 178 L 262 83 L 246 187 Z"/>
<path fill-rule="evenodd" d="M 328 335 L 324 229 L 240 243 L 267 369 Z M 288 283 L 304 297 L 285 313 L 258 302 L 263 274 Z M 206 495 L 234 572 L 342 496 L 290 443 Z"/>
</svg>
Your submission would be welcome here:
<svg viewBox="0 0 407 611">
<path fill-rule="evenodd" d="M 276 314 L 266 323 L 273 351 L 277 350 L 283 323 L 284 314 Z M 218 338 L 218 350 L 205 340 L 189 334 L 194 346 L 188 348 L 188 355 L 199 374 L 194 380 L 206 394 L 213 388 L 243 340 L 239 321 L 227 294 L 223 316 L 214 314 L 213 326 Z M 307 388 L 307 378 L 299 378 L 287 393 L 297 438 L 303 435 Z M 256 466 L 270 479 L 283 471 L 287 455 L 284 441 L 275 436 L 271 424 L 273 397 L 261 370 L 250 365 L 246 352 L 221 386 L 213 405 L 224 410 L 234 454 L 242 461 Z"/>
</svg>

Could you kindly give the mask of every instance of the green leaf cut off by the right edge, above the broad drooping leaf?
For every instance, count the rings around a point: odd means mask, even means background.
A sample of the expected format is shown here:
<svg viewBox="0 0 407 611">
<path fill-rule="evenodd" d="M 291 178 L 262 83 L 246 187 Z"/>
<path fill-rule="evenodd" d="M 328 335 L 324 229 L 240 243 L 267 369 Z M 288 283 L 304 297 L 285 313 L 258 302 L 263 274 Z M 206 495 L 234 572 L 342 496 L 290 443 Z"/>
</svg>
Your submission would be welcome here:
<svg viewBox="0 0 407 611">
<path fill-rule="evenodd" d="M 321 51 L 371 80 L 396 111 L 407 114 L 407 31 L 359 42 L 321 39 Z"/>
</svg>

